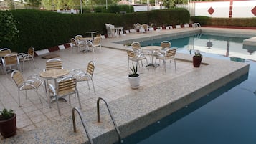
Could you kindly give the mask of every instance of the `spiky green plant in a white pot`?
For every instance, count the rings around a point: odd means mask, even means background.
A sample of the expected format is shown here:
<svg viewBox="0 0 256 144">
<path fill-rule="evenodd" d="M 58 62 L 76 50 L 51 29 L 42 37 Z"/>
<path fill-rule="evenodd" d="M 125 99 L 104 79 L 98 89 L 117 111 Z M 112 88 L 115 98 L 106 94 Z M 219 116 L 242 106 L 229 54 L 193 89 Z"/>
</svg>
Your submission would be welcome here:
<svg viewBox="0 0 256 144">
<path fill-rule="evenodd" d="M 130 67 L 131 69 L 131 74 L 128 75 L 128 80 L 130 82 L 131 88 L 132 89 L 137 89 L 140 86 L 140 75 L 137 73 L 138 72 L 138 67 L 133 65 L 133 67 Z"/>
</svg>

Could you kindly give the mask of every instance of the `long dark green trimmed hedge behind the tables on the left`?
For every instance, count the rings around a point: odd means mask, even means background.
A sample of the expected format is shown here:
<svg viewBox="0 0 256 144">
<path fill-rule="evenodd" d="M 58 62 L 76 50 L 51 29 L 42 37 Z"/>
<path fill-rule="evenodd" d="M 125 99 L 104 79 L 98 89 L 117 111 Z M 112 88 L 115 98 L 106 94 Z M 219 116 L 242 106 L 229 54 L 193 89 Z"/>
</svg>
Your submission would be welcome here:
<svg viewBox="0 0 256 144">
<path fill-rule="evenodd" d="M 15 43 L 1 44 L 14 52 L 27 52 L 29 47 L 46 49 L 70 42 L 71 37 L 82 34 L 90 37 L 88 31 L 97 30 L 106 34 L 105 23 L 114 24 L 124 29 L 133 28 L 137 22 L 154 26 L 189 23 L 189 11 L 186 9 L 169 9 L 128 14 L 60 14 L 52 11 L 34 9 L 16 9 L 11 12 L 19 22 L 19 39 Z M 1 30 L 1 29 L 0 29 Z"/>
</svg>

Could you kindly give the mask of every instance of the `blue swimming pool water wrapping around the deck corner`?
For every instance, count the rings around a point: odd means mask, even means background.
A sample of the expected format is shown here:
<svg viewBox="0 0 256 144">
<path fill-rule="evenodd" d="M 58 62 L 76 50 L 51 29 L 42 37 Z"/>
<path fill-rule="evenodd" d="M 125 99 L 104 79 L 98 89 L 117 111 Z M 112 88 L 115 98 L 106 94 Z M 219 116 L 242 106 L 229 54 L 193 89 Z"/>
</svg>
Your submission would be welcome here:
<svg viewBox="0 0 256 144">
<path fill-rule="evenodd" d="M 193 53 L 193 50 L 189 51 L 188 49 L 191 46 L 189 44 L 191 37 L 196 37 L 196 40 L 193 41 L 194 49 L 202 47 L 200 50 L 204 52 L 204 57 L 249 63 L 249 73 L 138 131 L 138 133 L 124 138 L 123 143 L 256 143 L 256 62 L 241 58 L 255 56 L 256 52 L 252 52 L 253 49 L 250 51 L 243 49 L 242 40 L 246 37 L 219 37 L 204 34 L 199 38 L 197 38 L 198 35 L 195 35 L 171 39 L 172 47 L 178 47 L 178 52 Z M 209 39 L 212 42 L 212 47 L 207 47 Z M 162 40 L 168 39 L 162 38 L 153 42 L 141 43 L 143 46 L 159 45 Z M 209 52 L 209 49 L 214 54 Z M 214 49 L 217 49 L 216 51 L 219 53 L 214 52 Z M 222 51 L 223 53 L 221 53 Z"/>
</svg>

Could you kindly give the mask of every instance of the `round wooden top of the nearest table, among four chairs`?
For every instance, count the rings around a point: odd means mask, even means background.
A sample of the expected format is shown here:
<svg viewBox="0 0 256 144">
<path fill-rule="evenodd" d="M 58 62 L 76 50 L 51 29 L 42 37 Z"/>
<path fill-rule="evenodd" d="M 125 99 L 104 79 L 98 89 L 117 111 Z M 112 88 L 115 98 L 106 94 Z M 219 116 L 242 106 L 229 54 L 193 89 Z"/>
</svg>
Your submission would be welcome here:
<svg viewBox="0 0 256 144">
<path fill-rule="evenodd" d="M 44 72 L 41 72 L 40 77 L 44 78 L 58 78 L 70 73 L 67 69 L 50 69 Z"/>
</svg>

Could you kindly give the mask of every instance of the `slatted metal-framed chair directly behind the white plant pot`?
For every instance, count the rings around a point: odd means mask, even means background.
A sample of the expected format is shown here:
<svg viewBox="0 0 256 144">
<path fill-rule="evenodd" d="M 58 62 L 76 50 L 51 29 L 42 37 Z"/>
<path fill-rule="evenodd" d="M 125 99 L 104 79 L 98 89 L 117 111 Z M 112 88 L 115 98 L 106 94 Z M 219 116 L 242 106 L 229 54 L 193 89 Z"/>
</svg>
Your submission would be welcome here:
<svg viewBox="0 0 256 144">
<path fill-rule="evenodd" d="M 141 65 L 143 60 L 146 60 L 146 63 L 148 65 L 148 59 L 145 57 L 144 53 L 136 54 L 132 49 L 126 49 L 127 55 L 128 55 L 128 64 L 127 64 L 127 71 L 129 70 L 129 61 L 136 62 L 136 65 L 138 65 L 138 62 L 141 61 Z"/>
</svg>

